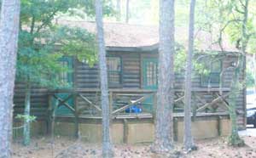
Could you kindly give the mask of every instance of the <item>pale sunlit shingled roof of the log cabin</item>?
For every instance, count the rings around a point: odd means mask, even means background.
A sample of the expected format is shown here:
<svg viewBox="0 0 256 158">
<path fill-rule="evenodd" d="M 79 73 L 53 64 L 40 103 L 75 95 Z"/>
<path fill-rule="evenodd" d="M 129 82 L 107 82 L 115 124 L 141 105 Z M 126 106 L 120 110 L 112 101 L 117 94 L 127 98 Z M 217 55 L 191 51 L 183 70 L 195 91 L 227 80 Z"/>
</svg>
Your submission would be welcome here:
<svg viewBox="0 0 256 158">
<path fill-rule="evenodd" d="M 59 25 L 68 25 L 84 28 L 96 33 L 96 23 L 84 20 L 58 20 Z M 124 23 L 104 23 L 105 44 L 108 50 L 141 50 L 148 51 L 158 48 L 159 28 L 154 25 L 131 25 Z M 184 47 L 188 45 L 188 29 L 176 28 L 176 41 Z M 195 31 L 195 48 L 202 51 L 221 51 L 218 42 L 214 41 L 216 35 L 207 31 Z M 224 37 L 223 48 L 226 52 L 237 52 L 238 50 Z"/>
</svg>

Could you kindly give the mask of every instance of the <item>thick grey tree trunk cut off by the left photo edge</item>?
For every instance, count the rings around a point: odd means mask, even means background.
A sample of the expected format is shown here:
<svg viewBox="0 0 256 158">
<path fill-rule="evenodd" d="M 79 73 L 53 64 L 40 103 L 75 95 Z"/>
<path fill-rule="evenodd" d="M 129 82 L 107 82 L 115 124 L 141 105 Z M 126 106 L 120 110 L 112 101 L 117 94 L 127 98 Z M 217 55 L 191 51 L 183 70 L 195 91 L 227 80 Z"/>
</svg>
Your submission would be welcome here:
<svg viewBox="0 0 256 158">
<path fill-rule="evenodd" d="M 19 20 L 20 0 L 2 0 L 0 21 L 0 158 L 11 156 Z"/>
</svg>

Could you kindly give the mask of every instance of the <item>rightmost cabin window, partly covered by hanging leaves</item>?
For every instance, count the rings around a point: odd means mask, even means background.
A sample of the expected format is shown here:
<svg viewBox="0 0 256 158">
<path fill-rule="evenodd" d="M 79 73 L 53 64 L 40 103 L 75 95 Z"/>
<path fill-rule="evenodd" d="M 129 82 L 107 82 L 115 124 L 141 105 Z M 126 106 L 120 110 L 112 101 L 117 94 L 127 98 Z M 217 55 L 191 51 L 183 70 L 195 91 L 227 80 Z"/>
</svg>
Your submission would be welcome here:
<svg viewBox="0 0 256 158">
<path fill-rule="evenodd" d="M 218 87 L 220 82 L 220 73 L 222 71 L 221 61 L 212 61 L 205 66 L 209 72 L 206 75 L 201 75 L 201 86 Z"/>
</svg>

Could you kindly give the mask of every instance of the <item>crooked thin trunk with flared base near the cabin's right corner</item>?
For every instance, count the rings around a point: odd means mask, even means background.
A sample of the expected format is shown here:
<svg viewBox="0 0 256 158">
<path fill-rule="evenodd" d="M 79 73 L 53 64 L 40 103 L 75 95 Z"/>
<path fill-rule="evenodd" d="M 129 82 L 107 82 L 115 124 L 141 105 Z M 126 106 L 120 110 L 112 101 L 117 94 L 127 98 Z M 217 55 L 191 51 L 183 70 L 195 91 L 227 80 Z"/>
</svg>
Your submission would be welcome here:
<svg viewBox="0 0 256 158">
<path fill-rule="evenodd" d="M 248 16 L 248 3 L 249 0 L 245 1 L 244 11 L 243 11 L 243 20 L 241 24 L 241 50 L 238 54 L 237 66 L 235 69 L 235 74 L 232 81 L 232 86 L 230 89 L 230 120 L 231 120 L 231 135 L 229 138 L 229 144 L 233 146 L 243 146 L 244 141 L 239 137 L 238 128 L 237 128 L 237 115 L 236 115 L 236 99 L 238 98 L 239 93 L 244 88 L 244 85 L 241 85 L 243 81 L 240 81 L 239 77 L 245 66 L 245 55 L 247 49 L 247 16 Z"/>
</svg>

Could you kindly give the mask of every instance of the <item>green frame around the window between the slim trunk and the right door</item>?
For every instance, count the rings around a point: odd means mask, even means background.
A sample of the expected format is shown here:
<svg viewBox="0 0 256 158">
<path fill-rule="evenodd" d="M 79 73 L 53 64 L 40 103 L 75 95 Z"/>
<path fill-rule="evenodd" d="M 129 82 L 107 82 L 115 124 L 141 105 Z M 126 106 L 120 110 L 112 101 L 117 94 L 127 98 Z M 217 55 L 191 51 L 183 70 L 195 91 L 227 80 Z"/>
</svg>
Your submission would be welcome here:
<svg viewBox="0 0 256 158">
<path fill-rule="evenodd" d="M 113 84 L 113 83 L 109 82 L 110 77 L 108 75 L 108 87 L 111 87 L 111 88 L 123 87 L 123 81 L 124 81 L 124 79 L 123 79 L 123 74 L 124 74 L 123 73 L 123 59 L 119 55 L 107 55 L 106 60 L 108 60 L 109 58 L 116 58 L 116 59 L 118 58 L 119 59 L 119 61 L 120 61 L 120 71 L 119 71 L 119 83 L 118 84 Z M 107 61 L 106 61 L 106 64 L 107 64 L 107 71 L 109 73 L 111 71 L 108 70 L 108 62 Z"/>
</svg>

